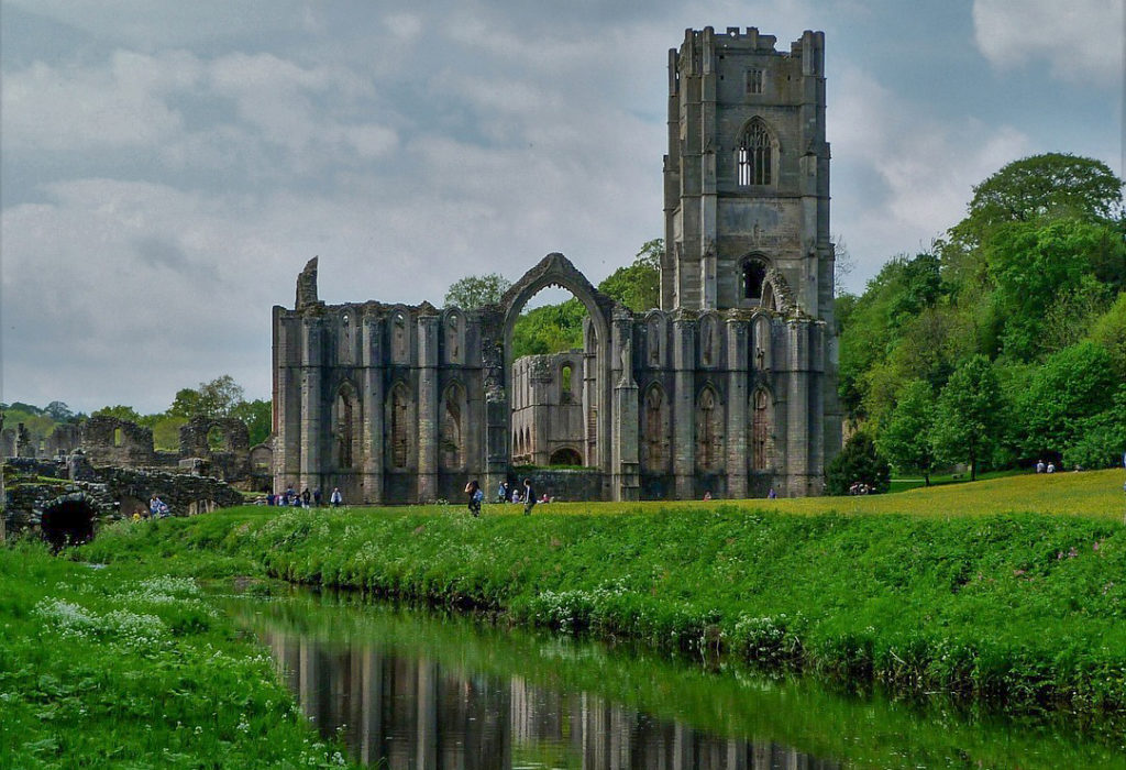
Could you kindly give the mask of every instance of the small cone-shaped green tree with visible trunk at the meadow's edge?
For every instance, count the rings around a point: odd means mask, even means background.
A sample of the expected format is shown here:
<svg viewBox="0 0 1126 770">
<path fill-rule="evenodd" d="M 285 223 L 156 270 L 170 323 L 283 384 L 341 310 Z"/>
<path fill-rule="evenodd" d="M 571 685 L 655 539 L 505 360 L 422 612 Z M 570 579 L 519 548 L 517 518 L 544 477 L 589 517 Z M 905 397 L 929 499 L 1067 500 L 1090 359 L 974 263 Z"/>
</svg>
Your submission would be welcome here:
<svg viewBox="0 0 1126 770">
<path fill-rule="evenodd" d="M 935 454 L 950 463 L 968 463 L 969 478 L 977 464 L 1000 445 L 1004 404 L 993 365 L 973 356 L 959 366 L 938 397 L 932 431 Z"/>
</svg>

